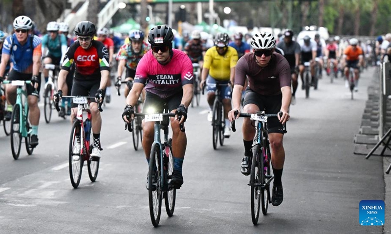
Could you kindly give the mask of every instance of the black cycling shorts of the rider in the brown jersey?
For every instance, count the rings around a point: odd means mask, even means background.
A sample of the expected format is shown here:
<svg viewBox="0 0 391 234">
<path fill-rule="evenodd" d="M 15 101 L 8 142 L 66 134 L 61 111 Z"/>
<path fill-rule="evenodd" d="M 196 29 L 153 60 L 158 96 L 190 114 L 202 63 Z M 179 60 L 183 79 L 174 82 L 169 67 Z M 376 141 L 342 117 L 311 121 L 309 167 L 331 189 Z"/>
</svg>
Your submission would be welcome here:
<svg viewBox="0 0 391 234">
<path fill-rule="evenodd" d="M 282 94 L 266 96 L 260 95 L 252 91 L 249 87 L 246 88 L 243 106 L 247 104 L 255 104 L 260 110 L 265 110 L 266 114 L 277 114 L 281 110 Z M 269 133 L 286 133 L 283 131 L 282 123 L 276 117 L 267 119 L 267 131 Z"/>
</svg>

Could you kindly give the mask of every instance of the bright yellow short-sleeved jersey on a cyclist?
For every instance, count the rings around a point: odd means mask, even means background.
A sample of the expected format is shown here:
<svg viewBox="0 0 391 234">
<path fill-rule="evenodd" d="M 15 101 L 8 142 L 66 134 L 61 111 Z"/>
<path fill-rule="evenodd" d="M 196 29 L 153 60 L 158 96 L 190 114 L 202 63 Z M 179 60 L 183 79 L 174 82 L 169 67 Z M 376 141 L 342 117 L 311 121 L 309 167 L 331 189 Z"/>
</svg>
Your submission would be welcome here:
<svg viewBox="0 0 391 234">
<path fill-rule="evenodd" d="M 216 80 L 229 80 L 231 68 L 238 62 L 238 52 L 234 47 L 228 46 L 224 55 L 219 55 L 216 46 L 209 48 L 204 56 L 203 67 L 209 69 L 209 75 Z"/>
</svg>

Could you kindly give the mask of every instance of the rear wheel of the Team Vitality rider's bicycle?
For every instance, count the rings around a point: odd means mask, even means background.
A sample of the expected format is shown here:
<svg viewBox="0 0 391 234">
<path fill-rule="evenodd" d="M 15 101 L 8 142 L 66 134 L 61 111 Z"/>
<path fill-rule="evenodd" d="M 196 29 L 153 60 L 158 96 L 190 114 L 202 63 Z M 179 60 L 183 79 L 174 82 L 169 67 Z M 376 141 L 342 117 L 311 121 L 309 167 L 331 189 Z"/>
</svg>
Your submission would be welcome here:
<svg viewBox="0 0 391 234">
<path fill-rule="evenodd" d="M 173 159 L 173 148 L 171 147 L 172 139 L 168 140 L 168 144 L 165 148 L 166 155 L 168 159 L 168 168 L 167 168 L 167 179 L 171 179 L 174 172 L 174 159 Z M 169 191 L 163 192 L 164 203 L 166 205 L 166 212 L 169 217 L 174 215 L 175 209 L 175 199 L 176 199 L 176 189 L 171 189 Z"/>
</svg>

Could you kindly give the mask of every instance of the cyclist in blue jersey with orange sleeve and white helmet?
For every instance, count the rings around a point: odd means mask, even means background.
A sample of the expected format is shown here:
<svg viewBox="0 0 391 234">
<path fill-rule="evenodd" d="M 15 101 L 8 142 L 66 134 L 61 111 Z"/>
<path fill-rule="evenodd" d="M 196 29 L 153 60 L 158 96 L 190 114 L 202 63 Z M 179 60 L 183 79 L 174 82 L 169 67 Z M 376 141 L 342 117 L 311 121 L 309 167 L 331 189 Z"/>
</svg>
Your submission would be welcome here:
<svg viewBox="0 0 391 234">
<path fill-rule="evenodd" d="M 0 63 L 0 82 L 5 75 L 5 67 L 10 60 L 14 66 L 8 75 L 8 80 L 31 80 L 34 86 L 27 86 L 27 103 L 30 110 L 29 120 L 32 127 L 30 145 L 38 145 L 38 124 L 40 121 L 40 109 L 38 98 L 41 88 L 41 79 L 38 78 L 41 67 L 41 39 L 30 35 L 29 30 L 33 26 L 33 20 L 27 16 L 19 16 L 14 20 L 15 33 L 4 41 Z M 12 112 L 12 105 L 16 101 L 17 86 L 6 85 L 7 111 Z"/>
</svg>

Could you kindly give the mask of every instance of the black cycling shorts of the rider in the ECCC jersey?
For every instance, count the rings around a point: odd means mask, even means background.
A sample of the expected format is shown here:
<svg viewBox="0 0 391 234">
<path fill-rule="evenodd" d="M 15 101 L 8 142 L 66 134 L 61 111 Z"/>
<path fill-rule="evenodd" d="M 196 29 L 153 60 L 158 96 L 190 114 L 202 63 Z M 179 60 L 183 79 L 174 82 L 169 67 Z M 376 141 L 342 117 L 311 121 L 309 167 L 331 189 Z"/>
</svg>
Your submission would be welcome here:
<svg viewBox="0 0 391 234">
<path fill-rule="evenodd" d="M 74 79 L 72 85 L 72 96 L 83 96 L 83 97 L 95 97 L 96 92 L 99 89 L 101 79 L 92 80 L 80 80 Z M 103 90 L 103 97 L 105 99 L 106 89 Z M 94 98 L 90 99 L 90 102 L 96 102 Z M 73 103 L 73 107 L 77 107 L 78 104 Z"/>
</svg>

